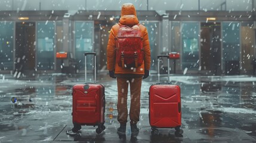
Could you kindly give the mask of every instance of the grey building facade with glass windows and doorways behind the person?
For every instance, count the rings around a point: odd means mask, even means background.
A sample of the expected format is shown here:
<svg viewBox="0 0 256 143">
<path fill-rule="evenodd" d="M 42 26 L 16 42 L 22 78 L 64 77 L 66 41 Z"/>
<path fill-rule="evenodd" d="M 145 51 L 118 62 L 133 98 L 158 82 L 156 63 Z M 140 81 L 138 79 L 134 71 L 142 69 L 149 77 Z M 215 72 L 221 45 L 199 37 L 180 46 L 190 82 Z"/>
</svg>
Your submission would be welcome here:
<svg viewBox="0 0 256 143">
<path fill-rule="evenodd" d="M 109 31 L 125 2 L 131 1 L 1 2 L 0 73 L 50 73 L 63 67 L 82 73 L 87 51 L 97 53 L 97 69 L 105 71 Z M 157 69 L 157 55 L 178 52 L 176 73 L 251 74 L 256 52 L 254 0 L 147 0 L 134 5 L 149 32 L 152 71 Z M 57 58 L 61 51 L 69 58 Z"/>
</svg>

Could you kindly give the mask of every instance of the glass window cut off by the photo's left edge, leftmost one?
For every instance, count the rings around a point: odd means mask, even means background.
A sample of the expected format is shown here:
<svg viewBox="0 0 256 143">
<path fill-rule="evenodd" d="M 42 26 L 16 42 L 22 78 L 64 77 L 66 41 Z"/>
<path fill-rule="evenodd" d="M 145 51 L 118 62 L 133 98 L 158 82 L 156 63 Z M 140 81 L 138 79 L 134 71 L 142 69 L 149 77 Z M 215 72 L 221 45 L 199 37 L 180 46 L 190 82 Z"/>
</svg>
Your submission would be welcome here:
<svg viewBox="0 0 256 143">
<path fill-rule="evenodd" d="M 0 22 L 0 70 L 13 70 L 14 23 Z"/>
</svg>

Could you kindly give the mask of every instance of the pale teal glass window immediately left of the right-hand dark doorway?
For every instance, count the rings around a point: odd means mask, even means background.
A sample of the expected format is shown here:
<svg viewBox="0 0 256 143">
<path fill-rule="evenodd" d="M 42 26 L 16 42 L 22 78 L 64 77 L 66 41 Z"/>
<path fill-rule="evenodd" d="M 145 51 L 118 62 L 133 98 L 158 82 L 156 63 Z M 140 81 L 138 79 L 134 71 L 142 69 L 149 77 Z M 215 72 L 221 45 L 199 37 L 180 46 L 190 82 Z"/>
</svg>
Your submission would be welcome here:
<svg viewBox="0 0 256 143">
<path fill-rule="evenodd" d="M 199 68 L 199 23 L 181 23 L 182 67 L 183 69 Z"/>
</svg>

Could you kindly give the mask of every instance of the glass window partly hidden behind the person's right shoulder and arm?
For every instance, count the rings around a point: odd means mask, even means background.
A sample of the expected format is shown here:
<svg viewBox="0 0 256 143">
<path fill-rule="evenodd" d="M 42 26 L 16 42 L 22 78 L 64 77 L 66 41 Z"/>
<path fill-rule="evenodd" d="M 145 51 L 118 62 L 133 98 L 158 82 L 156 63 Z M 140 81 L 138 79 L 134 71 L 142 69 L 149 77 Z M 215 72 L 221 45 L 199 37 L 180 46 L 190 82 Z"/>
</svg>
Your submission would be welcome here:
<svg viewBox="0 0 256 143">
<path fill-rule="evenodd" d="M 141 21 L 141 24 L 147 27 L 149 35 L 150 52 L 151 52 L 151 69 L 157 70 L 157 57 L 160 50 L 159 46 L 159 22 Z"/>
</svg>

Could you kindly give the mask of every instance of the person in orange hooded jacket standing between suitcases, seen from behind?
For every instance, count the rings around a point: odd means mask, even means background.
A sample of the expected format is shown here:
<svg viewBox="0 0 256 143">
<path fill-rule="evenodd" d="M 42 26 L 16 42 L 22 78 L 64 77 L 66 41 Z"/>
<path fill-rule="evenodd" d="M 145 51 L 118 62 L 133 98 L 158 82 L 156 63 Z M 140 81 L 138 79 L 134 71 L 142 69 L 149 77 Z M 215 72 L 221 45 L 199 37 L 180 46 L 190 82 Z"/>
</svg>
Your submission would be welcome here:
<svg viewBox="0 0 256 143">
<path fill-rule="evenodd" d="M 122 33 L 121 28 L 127 29 L 139 29 L 141 38 L 141 51 L 134 52 L 135 55 L 138 54 L 138 58 L 132 64 L 128 65 L 128 58 L 126 56 L 126 51 L 120 51 L 122 45 L 125 45 L 124 41 L 118 41 L 118 35 Z M 120 35 L 119 35 L 120 36 Z M 128 36 L 127 36 L 128 37 Z M 127 38 L 128 39 L 128 38 Z M 129 40 L 128 40 L 129 41 Z M 127 43 L 128 45 L 135 43 L 135 41 Z M 135 45 L 137 46 L 137 45 Z M 133 50 L 134 48 L 129 48 Z M 124 49 L 125 50 L 125 49 Z M 126 49 L 127 50 L 127 49 Z M 122 55 L 120 53 L 122 52 Z M 140 54 L 142 53 L 142 56 Z M 135 56 L 134 56 L 135 57 Z M 122 61 L 120 59 L 122 59 Z M 142 60 L 140 58 L 143 58 Z M 120 60 L 120 62 L 118 61 Z M 140 61 L 142 61 L 140 63 Z M 135 63 L 135 64 L 134 64 Z M 120 127 L 118 128 L 118 133 L 124 135 L 127 126 L 127 94 L 128 85 L 130 86 L 131 92 L 131 106 L 129 109 L 129 119 L 131 120 L 131 133 L 135 134 L 139 132 L 137 128 L 137 122 L 140 119 L 140 94 L 141 94 L 141 82 L 142 79 L 146 79 L 149 76 L 150 70 L 150 45 L 147 29 L 145 26 L 139 23 L 135 7 L 131 3 L 123 4 L 121 10 L 121 18 L 118 24 L 115 24 L 110 30 L 109 42 L 107 43 L 107 70 L 109 70 L 109 75 L 112 78 L 117 78 L 118 85 L 118 122 Z"/>
</svg>

